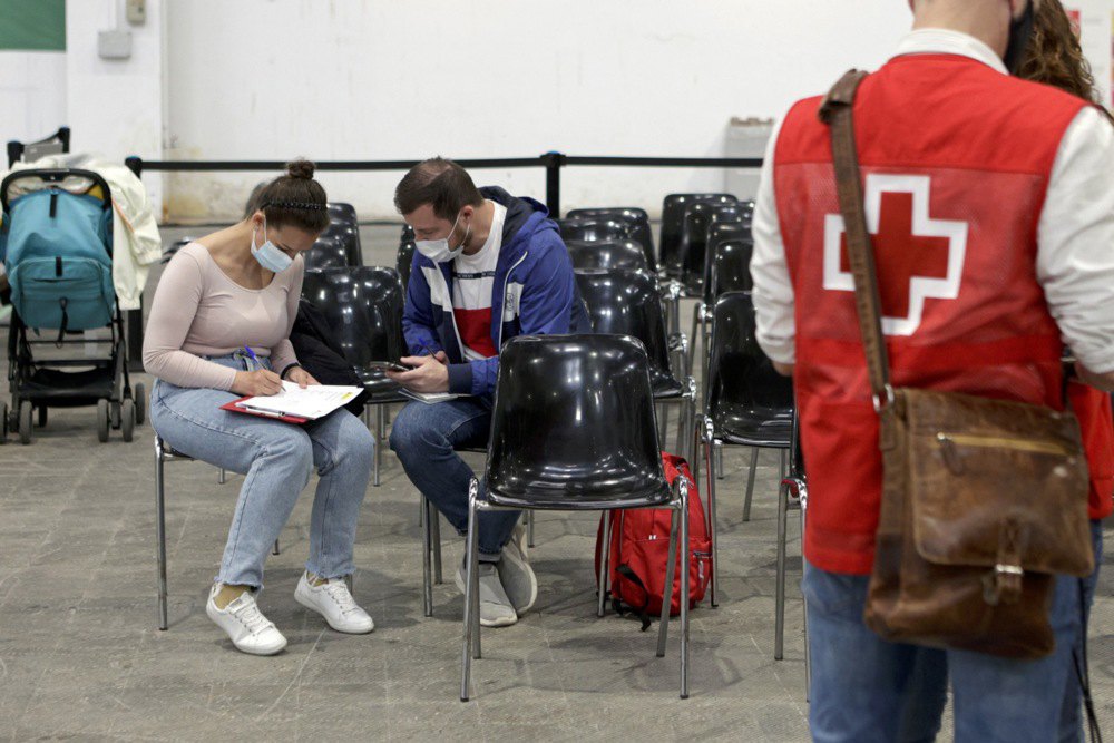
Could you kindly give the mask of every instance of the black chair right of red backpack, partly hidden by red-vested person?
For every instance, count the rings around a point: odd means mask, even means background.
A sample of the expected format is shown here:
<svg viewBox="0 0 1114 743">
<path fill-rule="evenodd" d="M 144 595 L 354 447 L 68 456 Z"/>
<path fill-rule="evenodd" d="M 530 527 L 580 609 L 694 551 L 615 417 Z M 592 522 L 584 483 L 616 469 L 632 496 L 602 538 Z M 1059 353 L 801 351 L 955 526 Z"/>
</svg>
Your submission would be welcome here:
<svg viewBox="0 0 1114 743">
<path fill-rule="evenodd" d="M 713 453 L 724 444 L 753 447 L 743 504 L 743 520 L 750 520 L 759 449 L 781 450 L 781 475 L 784 477 L 794 407 L 792 380 L 774 370 L 755 339 L 754 303 L 750 293 L 723 294 L 715 302 L 712 317 L 711 354 L 705 380 L 706 409 L 701 440 L 712 526 L 711 602 L 714 606 L 719 570 L 715 564 L 716 458 Z"/>
</svg>

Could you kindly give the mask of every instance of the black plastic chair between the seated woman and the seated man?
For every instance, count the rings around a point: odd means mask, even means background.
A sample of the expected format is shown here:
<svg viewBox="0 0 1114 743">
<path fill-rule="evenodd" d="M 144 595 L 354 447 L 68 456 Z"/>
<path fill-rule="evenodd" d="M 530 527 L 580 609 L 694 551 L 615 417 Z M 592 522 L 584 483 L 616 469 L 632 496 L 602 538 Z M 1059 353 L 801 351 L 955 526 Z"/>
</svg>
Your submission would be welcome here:
<svg viewBox="0 0 1114 743">
<path fill-rule="evenodd" d="M 407 355 L 402 336 L 402 305 L 405 294 L 394 268 L 345 266 L 306 271 L 302 296 L 317 306 L 333 327 L 334 338 L 344 351 L 367 391 L 365 414 L 375 408 L 374 485 L 379 485 L 382 465 L 384 405 L 405 402 L 400 387 L 375 369 L 372 361 L 398 361 Z M 370 421 L 369 421 L 370 427 Z"/>
</svg>

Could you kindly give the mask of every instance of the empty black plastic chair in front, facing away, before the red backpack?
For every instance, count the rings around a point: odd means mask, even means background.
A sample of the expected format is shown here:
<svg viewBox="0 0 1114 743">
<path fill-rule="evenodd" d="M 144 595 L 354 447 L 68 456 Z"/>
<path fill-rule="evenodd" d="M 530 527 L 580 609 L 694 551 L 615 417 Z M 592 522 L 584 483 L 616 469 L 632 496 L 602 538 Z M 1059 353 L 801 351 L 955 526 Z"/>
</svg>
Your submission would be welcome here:
<svg viewBox="0 0 1114 743">
<path fill-rule="evenodd" d="M 665 481 L 654 429 L 649 362 L 636 339 L 535 335 L 508 342 L 500 354 L 486 483 L 485 499 L 479 498 L 475 479 L 469 495 L 461 702 L 469 698 L 471 661 L 480 657 L 476 528 L 480 511 L 673 509 L 665 585 L 673 586 L 674 556 L 680 548 L 681 596 L 688 596 L 688 483 L 677 478 L 671 489 Z M 610 521 L 604 521 L 606 544 Z M 606 575 L 603 559 L 602 594 Z M 658 657 L 665 655 L 668 623 L 670 602 L 665 600 Z M 681 697 L 687 696 L 688 602 L 683 599 Z"/>
</svg>

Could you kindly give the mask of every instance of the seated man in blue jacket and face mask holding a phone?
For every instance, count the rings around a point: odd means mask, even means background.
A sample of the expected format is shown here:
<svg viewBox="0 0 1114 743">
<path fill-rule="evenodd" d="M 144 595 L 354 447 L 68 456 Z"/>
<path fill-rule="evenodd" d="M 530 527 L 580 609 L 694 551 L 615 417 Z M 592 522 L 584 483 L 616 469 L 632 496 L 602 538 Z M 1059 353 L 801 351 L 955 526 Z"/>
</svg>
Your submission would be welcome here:
<svg viewBox="0 0 1114 743">
<path fill-rule="evenodd" d="M 391 449 L 463 535 L 473 475 L 456 450 L 487 446 L 502 344 L 590 325 L 568 251 L 541 204 L 477 188 L 463 168 L 437 157 L 407 173 L 394 205 L 417 244 L 402 319 L 412 354 L 402 362 L 414 370 L 390 377 L 413 392 L 467 397 L 409 403 L 394 419 Z M 479 515 L 480 623 L 488 627 L 515 624 L 537 598 L 519 515 Z M 463 566 L 457 587 L 463 590 Z"/>
</svg>

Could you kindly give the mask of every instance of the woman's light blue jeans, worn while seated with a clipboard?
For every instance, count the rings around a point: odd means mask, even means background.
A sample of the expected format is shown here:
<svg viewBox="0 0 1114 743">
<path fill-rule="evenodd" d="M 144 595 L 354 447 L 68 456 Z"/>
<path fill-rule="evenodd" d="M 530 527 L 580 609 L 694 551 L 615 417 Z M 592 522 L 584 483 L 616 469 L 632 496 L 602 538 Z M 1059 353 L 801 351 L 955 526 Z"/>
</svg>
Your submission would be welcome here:
<svg viewBox="0 0 1114 743">
<path fill-rule="evenodd" d="M 238 358 L 211 361 L 246 371 Z M 247 476 L 216 580 L 263 587 L 263 563 L 313 468 L 321 479 L 313 498 L 305 567 L 323 578 L 351 575 L 356 517 L 371 476 L 374 437 L 343 409 L 304 426 L 219 410 L 238 397 L 164 380 L 152 391 L 152 426 L 170 447 Z"/>
</svg>

